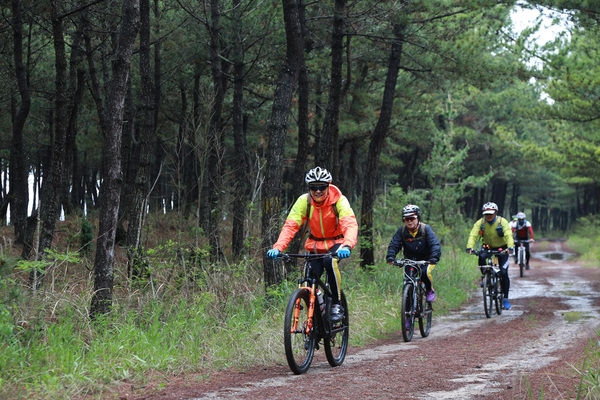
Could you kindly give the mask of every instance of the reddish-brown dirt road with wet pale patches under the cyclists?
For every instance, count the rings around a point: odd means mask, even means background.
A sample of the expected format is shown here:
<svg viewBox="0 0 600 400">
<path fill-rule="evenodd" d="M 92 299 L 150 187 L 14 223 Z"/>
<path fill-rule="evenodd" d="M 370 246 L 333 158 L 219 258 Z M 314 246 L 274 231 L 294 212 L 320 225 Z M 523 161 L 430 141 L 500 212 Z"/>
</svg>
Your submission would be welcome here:
<svg viewBox="0 0 600 400">
<path fill-rule="evenodd" d="M 535 253 L 536 246 L 546 248 Z M 481 295 L 410 343 L 395 338 L 357 350 L 331 368 L 322 351 L 307 374 L 287 365 L 173 382 L 136 399 L 289 399 L 318 388 L 332 399 L 573 399 L 586 347 L 597 343 L 600 269 L 571 261 L 562 242 L 532 247 L 531 269 L 511 265 L 511 310 L 487 319 Z M 312 388 L 312 389 L 311 389 Z M 540 397 L 541 396 L 541 397 Z M 303 396 L 306 397 L 306 396 Z"/>
</svg>

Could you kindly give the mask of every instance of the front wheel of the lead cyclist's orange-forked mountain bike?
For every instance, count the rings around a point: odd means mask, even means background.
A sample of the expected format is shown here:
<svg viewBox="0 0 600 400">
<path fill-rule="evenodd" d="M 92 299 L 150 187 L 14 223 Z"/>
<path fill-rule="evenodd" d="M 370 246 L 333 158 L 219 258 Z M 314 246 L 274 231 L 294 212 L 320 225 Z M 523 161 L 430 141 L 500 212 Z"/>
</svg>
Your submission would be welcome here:
<svg viewBox="0 0 600 400">
<path fill-rule="evenodd" d="M 283 338 L 285 345 L 285 357 L 292 372 L 296 375 L 308 371 L 315 355 L 315 330 L 307 334 L 308 306 L 310 294 L 307 290 L 297 289 L 290 297 L 285 310 L 285 322 L 283 327 Z"/>
</svg>

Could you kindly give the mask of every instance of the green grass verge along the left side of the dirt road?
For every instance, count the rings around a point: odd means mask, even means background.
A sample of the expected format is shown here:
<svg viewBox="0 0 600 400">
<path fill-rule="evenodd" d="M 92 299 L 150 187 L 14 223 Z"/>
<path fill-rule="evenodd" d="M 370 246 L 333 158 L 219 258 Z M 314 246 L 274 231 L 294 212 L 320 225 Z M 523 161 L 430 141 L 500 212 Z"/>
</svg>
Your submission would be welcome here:
<svg viewBox="0 0 600 400">
<path fill-rule="evenodd" d="M 265 296 L 256 283 L 262 274 L 256 264 L 205 272 L 219 285 L 117 286 L 113 312 L 94 322 L 88 318 L 91 277 L 66 269 L 64 281 L 53 280 L 35 298 L 5 299 L 0 304 L 0 398 L 105 398 L 103 391 L 125 380 L 137 387 L 149 376 L 166 382 L 183 373 L 285 365 L 283 314 L 296 277 Z M 459 307 L 478 273 L 472 257 L 451 252 L 444 257 L 433 272 L 435 315 Z M 399 268 L 381 263 L 365 271 L 349 262 L 342 265 L 342 276 L 350 345 L 397 334 Z"/>
</svg>

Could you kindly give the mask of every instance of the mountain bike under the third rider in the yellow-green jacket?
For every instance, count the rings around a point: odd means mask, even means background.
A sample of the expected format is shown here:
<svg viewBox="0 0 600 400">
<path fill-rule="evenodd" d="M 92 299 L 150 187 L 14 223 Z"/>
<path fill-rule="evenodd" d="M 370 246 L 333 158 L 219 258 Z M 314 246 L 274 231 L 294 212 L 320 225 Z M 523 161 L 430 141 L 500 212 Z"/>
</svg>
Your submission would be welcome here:
<svg viewBox="0 0 600 400">
<path fill-rule="evenodd" d="M 483 289 L 483 309 L 487 318 L 492 317 L 492 307 L 496 306 L 496 314 L 502 314 L 502 302 L 504 293 L 502 292 L 502 280 L 500 279 L 500 264 L 498 255 L 507 252 L 507 250 L 491 250 L 482 248 L 474 251 L 472 254 L 479 256 L 483 254 L 486 258 L 486 265 L 480 265 L 479 269 L 483 274 L 481 278 Z"/>
</svg>

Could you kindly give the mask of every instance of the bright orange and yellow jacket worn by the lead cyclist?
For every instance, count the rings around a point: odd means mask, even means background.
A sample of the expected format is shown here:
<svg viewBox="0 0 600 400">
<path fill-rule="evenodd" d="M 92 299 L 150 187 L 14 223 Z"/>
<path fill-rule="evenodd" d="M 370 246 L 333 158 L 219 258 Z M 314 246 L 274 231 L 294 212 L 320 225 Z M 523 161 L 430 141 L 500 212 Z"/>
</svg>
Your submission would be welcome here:
<svg viewBox="0 0 600 400">
<path fill-rule="evenodd" d="M 284 251 L 306 221 L 309 194 L 296 200 L 288 214 L 274 249 Z M 333 209 L 336 205 L 337 215 Z M 311 253 L 326 253 L 334 245 L 341 243 L 351 249 L 358 240 L 358 222 L 346 196 L 335 185 L 329 185 L 329 196 L 321 204 L 310 201 L 309 237 L 304 248 Z"/>
</svg>

